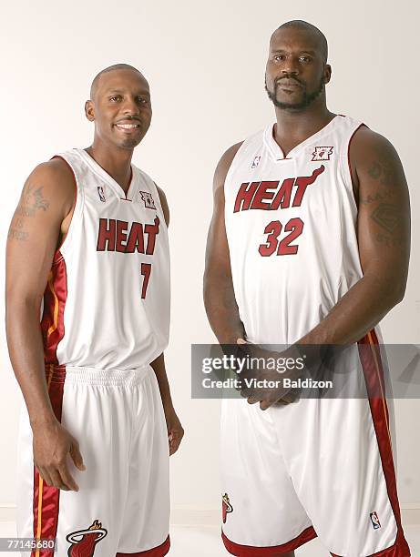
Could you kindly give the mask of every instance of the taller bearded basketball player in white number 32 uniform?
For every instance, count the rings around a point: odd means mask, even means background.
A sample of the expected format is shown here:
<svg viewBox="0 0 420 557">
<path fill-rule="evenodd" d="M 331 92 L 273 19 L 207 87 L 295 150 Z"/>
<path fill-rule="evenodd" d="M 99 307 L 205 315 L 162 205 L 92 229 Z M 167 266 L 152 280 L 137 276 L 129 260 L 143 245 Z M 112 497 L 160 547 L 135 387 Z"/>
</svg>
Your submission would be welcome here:
<svg viewBox="0 0 420 557">
<path fill-rule="evenodd" d="M 328 110 L 331 74 L 316 27 L 292 21 L 273 33 L 276 122 L 216 169 L 205 303 L 221 344 L 364 345 L 369 394 L 384 379 L 377 324 L 405 293 L 408 192 L 389 141 Z M 292 556 L 318 535 L 335 556 L 410 555 L 385 397 L 288 404 L 288 394 L 223 400 L 227 550 Z"/>
</svg>

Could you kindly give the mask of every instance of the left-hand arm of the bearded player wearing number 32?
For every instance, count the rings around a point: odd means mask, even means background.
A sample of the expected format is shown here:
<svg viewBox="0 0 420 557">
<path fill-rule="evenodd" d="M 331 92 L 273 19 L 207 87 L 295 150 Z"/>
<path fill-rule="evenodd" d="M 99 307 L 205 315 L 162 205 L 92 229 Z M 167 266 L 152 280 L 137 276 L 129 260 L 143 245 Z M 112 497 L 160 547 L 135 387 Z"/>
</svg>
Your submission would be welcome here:
<svg viewBox="0 0 420 557">
<path fill-rule="evenodd" d="M 236 344 L 245 339 L 233 290 L 230 254 L 225 227 L 224 183 L 230 164 L 241 143 L 230 147 L 216 168 L 213 180 L 213 216 L 210 222 L 204 272 L 204 305 L 210 327 L 220 344 Z"/>
</svg>

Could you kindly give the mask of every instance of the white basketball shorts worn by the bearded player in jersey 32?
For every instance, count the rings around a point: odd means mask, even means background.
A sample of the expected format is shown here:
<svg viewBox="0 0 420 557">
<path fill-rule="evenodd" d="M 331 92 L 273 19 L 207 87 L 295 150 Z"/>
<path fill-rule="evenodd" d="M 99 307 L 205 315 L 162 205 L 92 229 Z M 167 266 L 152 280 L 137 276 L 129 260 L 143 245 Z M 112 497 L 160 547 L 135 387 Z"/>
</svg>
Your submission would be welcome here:
<svg viewBox="0 0 420 557">
<path fill-rule="evenodd" d="M 377 346 L 369 354 L 364 351 L 362 362 L 366 395 L 384 391 Z M 223 400 L 228 552 L 274 557 L 318 536 L 334 557 L 408 557 L 390 418 L 385 397 L 302 398 L 268 410 Z"/>
</svg>

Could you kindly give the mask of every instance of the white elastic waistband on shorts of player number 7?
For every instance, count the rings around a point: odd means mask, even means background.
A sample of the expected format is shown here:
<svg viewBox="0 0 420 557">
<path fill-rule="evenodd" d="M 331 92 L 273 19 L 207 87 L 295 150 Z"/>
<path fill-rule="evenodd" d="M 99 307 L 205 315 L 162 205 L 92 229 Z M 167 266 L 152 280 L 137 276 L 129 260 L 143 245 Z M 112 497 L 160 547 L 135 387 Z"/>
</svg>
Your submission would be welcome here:
<svg viewBox="0 0 420 557">
<path fill-rule="evenodd" d="M 135 385 L 153 372 L 146 364 L 132 370 L 99 370 L 98 368 L 79 368 L 75 366 L 46 365 L 46 382 L 85 383 L 87 385 Z"/>
</svg>

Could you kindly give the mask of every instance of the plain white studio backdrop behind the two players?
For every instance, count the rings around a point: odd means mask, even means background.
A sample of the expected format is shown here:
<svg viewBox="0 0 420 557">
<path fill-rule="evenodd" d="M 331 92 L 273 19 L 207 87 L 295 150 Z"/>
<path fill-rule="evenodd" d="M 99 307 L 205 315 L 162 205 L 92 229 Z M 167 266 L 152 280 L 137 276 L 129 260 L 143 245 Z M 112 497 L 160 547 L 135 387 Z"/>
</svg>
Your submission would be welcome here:
<svg viewBox="0 0 420 557">
<path fill-rule="evenodd" d="M 367 5 L 366 5 L 367 4 Z M 289 19 L 318 25 L 330 45 L 334 112 L 364 119 L 388 137 L 405 166 L 419 210 L 418 12 L 414 2 L 353 0 L 74 0 L 2 7 L 0 251 L 31 169 L 69 147 L 87 147 L 83 112 L 91 79 L 126 62 L 148 77 L 154 116 L 134 162 L 163 187 L 171 209 L 172 324 L 167 352 L 173 397 L 186 437 L 171 461 L 175 509 L 219 509 L 219 402 L 190 399 L 190 344 L 210 342 L 201 295 L 211 179 L 225 148 L 273 119 L 263 89 L 272 30 Z M 296 4 L 294 4 L 296 5 Z M 384 319 L 387 342 L 420 342 L 419 228 L 405 300 Z M 30 272 L 30 269 L 28 269 Z M 4 265 L 0 282 L 4 289 Z M 3 307 L 3 297 L 0 302 Z M 20 394 L 0 330 L 0 507 L 15 505 Z M 396 401 L 400 500 L 420 509 L 417 400 Z"/>
</svg>

